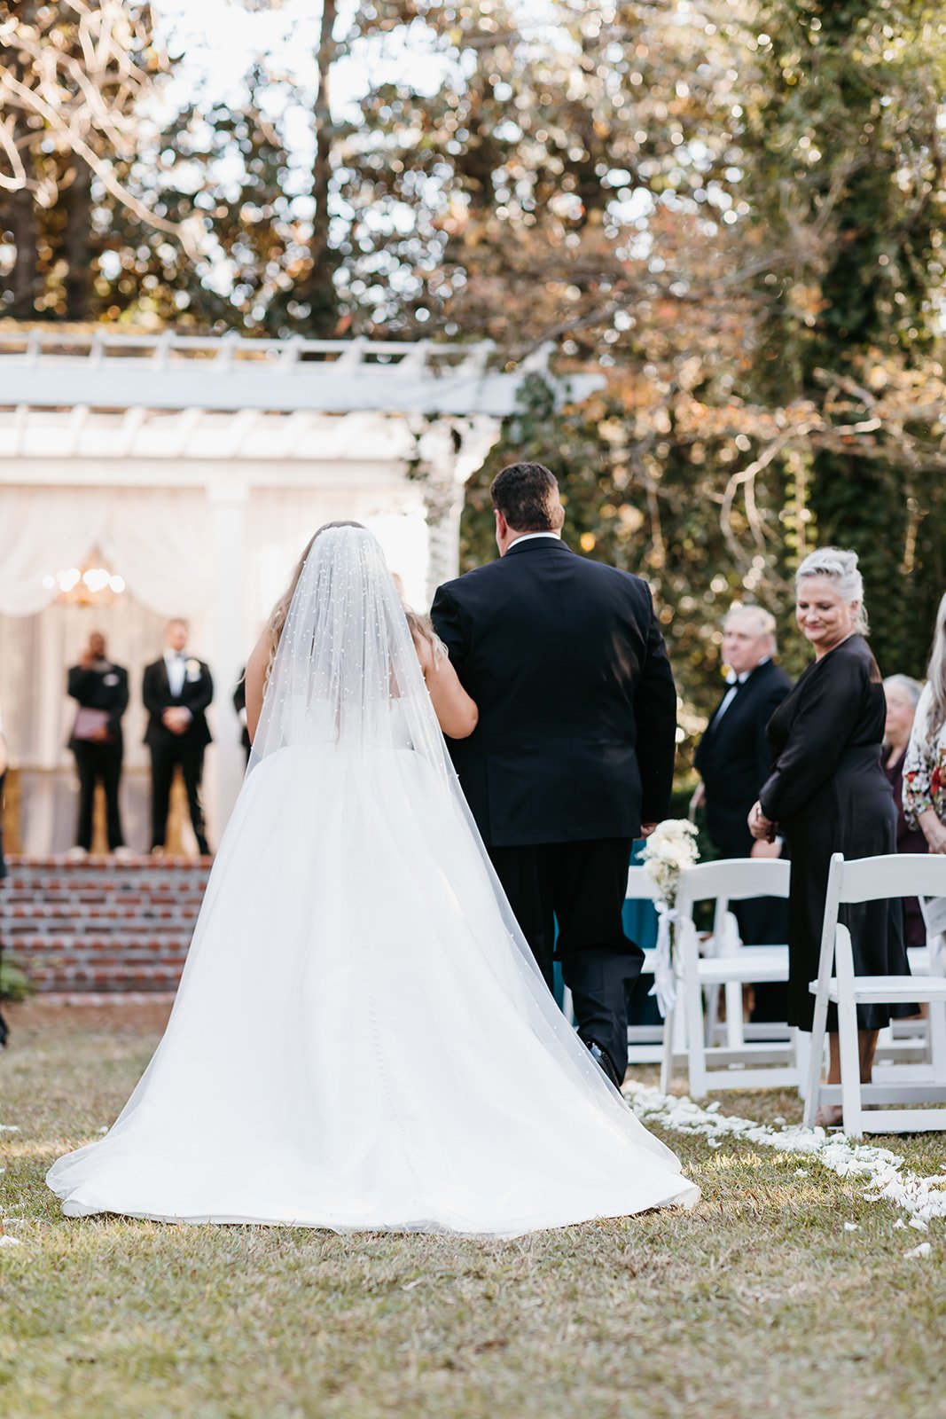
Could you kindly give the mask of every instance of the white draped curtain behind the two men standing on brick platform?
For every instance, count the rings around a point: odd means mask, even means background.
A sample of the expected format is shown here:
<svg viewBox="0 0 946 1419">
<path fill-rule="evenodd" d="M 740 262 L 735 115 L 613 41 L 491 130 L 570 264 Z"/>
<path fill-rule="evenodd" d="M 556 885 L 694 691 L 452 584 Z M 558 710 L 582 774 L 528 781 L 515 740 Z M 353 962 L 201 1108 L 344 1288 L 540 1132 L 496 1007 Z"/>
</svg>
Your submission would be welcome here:
<svg viewBox="0 0 946 1419">
<path fill-rule="evenodd" d="M 20 769 L 24 851 L 62 851 L 74 841 L 78 785 L 65 745 L 75 704 L 65 694 L 65 671 L 94 630 L 129 671 L 122 807 L 129 841 L 148 846 L 142 671 L 162 651 L 169 616 L 191 622 L 194 648 L 203 653 L 213 587 L 208 545 L 201 490 L 0 490 L 0 707 L 11 763 Z M 125 579 L 126 592 L 81 606 L 62 600 L 58 583 L 44 586 L 92 556 Z"/>
</svg>

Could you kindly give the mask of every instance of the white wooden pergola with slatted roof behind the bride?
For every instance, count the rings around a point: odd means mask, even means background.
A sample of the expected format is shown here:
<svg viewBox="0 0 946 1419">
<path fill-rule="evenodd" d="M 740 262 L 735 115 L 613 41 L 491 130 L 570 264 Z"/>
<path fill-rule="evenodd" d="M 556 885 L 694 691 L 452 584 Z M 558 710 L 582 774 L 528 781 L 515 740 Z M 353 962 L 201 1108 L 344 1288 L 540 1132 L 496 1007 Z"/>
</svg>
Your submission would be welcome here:
<svg viewBox="0 0 946 1419">
<path fill-rule="evenodd" d="M 494 369 L 489 342 L 7 326 L 0 329 L 0 545 L 10 545 L 10 518 L 24 508 L 47 508 L 54 519 L 57 505 L 62 512 L 74 498 L 79 565 L 92 551 L 84 539 L 104 551 L 109 538 L 119 545 L 108 519 L 116 498 L 125 518 L 140 501 L 139 532 L 159 504 L 179 507 L 197 529 L 187 575 L 169 578 L 166 595 L 152 576 L 145 600 L 177 614 L 189 609 L 180 602 L 184 583 L 197 589 L 194 599 L 200 592 L 201 633 L 213 648 L 218 698 L 227 700 L 265 606 L 321 521 L 352 517 L 372 526 L 414 604 L 457 573 L 464 484 L 498 440 L 526 375 L 549 377 L 549 353 L 543 348 L 509 372 Z M 600 383 L 573 376 L 559 385 L 560 397 L 583 399 Z M 277 505 L 278 536 L 267 532 Z M 113 570 L 133 585 L 130 568 Z M 44 600 L 31 590 L 7 586 L 4 603 L 0 569 L 0 614 L 34 613 Z M 218 735 L 208 795 L 217 833 L 241 771 L 238 744 Z"/>
</svg>

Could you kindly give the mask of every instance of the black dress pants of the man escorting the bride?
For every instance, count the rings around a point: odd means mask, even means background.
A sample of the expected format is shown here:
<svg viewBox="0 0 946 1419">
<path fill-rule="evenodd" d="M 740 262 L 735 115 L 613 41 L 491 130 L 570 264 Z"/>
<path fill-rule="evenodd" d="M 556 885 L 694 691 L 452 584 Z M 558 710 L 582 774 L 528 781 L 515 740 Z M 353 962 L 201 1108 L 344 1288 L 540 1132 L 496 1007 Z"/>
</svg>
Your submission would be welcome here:
<svg viewBox="0 0 946 1419">
<path fill-rule="evenodd" d="M 617 1077 L 624 1078 L 624 989 L 637 981 L 644 962 L 644 952 L 627 939 L 621 922 L 630 837 L 488 851 L 549 989 L 555 954 L 572 992 L 580 1037 L 606 1050 Z M 559 942 L 553 951 L 555 920 Z"/>
</svg>

